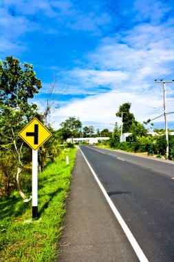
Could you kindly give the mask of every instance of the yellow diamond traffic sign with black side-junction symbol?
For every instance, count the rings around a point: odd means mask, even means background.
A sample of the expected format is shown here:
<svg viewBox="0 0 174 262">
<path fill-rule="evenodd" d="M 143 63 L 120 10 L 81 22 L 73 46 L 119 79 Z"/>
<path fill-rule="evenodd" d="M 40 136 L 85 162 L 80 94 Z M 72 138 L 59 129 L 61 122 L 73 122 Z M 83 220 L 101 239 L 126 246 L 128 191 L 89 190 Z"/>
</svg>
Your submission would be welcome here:
<svg viewBox="0 0 174 262">
<path fill-rule="evenodd" d="M 19 137 L 33 150 L 37 150 L 51 136 L 52 133 L 36 118 L 32 119 L 32 121 L 19 132 Z"/>
</svg>

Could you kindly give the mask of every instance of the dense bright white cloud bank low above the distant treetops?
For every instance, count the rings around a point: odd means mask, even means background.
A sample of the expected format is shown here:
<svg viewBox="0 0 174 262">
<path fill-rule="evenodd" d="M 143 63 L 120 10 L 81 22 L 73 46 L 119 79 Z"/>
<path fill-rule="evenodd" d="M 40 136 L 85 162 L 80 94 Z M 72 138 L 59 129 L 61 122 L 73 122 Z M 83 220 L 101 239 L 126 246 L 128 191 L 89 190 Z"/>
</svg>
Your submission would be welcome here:
<svg viewBox="0 0 174 262">
<path fill-rule="evenodd" d="M 154 93 L 153 107 L 162 107 L 162 97 L 160 94 Z M 116 118 L 116 112 L 118 112 L 119 106 L 122 103 L 135 101 L 137 97 L 134 94 L 127 92 L 110 91 L 105 94 L 97 94 L 92 97 L 86 97 L 85 99 L 74 99 L 65 106 L 62 106 L 59 110 L 54 112 L 52 119 L 55 128 L 60 128 L 59 124 L 65 121 L 70 116 L 79 117 L 83 123 L 89 123 L 95 125 L 97 128 L 101 125 L 101 128 L 110 128 L 110 123 L 118 121 L 120 118 Z M 149 107 L 151 105 L 148 101 L 149 97 L 141 96 L 136 103 L 133 103 L 131 112 L 135 114 L 138 120 L 145 121 L 149 119 Z M 150 109 L 151 110 L 151 109 Z M 159 115 L 159 112 L 157 112 Z M 144 116 L 144 117 L 143 117 Z"/>
</svg>

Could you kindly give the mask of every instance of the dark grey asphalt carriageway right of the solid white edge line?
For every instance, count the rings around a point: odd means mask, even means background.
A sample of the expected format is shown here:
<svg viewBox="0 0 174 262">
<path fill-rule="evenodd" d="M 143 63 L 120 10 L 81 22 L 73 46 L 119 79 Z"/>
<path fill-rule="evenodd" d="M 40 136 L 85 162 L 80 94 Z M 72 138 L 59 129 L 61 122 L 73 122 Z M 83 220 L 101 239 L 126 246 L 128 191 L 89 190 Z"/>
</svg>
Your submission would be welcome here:
<svg viewBox="0 0 174 262">
<path fill-rule="evenodd" d="M 174 261 L 174 165 L 80 146 L 146 258 Z"/>
</svg>

